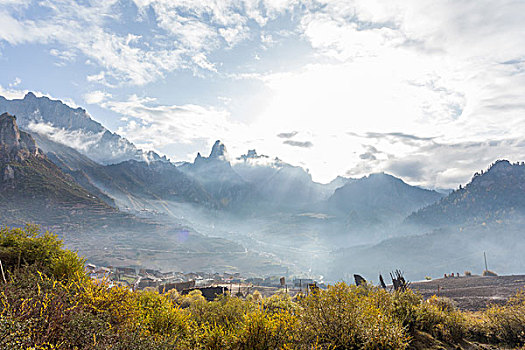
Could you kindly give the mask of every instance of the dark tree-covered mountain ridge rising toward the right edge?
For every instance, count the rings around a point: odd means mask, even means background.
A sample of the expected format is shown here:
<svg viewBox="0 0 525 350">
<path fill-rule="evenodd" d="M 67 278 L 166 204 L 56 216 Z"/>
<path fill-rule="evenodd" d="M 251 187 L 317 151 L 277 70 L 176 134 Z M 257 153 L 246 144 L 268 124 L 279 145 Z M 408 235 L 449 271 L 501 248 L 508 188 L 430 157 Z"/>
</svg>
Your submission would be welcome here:
<svg viewBox="0 0 525 350">
<path fill-rule="evenodd" d="M 465 187 L 410 215 L 406 222 L 428 226 L 483 223 L 525 213 L 525 165 L 498 160 Z"/>
</svg>

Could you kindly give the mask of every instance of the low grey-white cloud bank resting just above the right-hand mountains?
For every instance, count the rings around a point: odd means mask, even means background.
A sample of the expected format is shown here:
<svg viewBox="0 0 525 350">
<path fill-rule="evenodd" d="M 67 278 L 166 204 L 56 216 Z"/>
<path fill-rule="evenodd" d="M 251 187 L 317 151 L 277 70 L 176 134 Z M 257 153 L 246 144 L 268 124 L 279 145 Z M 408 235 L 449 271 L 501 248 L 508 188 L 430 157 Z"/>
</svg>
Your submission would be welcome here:
<svg viewBox="0 0 525 350">
<path fill-rule="evenodd" d="M 385 171 L 405 181 L 431 188 L 455 188 L 465 184 L 474 172 L 497 159 L 520 161 L 525 144 L 521 138 L 482 141 L 440 141 L 440 137 L 421 137 L 404 133 L 350 133 L 361 144 L 360 160 L 346 172 L 361 177 Z"/>
</svg>

